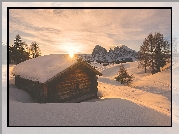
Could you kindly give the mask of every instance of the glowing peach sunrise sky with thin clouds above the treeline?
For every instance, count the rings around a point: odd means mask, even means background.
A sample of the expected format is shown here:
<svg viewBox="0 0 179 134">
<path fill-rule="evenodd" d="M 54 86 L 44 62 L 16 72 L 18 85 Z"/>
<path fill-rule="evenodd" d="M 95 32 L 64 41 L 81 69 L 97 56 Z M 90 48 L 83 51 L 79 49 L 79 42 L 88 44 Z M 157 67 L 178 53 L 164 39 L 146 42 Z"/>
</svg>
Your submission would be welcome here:
<svg viewBox="0 0 179 134">
<path fill-rule="evenodd" d="M 136 51 L 149 33 L 171 38 L 170 9 L 10 9 L 9 43 L 20 34 L 36 41 L 42 55 L 92 53 L 95 45 L 109 50 L 126 45 Z"/>
</svg>

